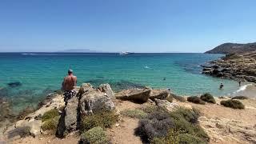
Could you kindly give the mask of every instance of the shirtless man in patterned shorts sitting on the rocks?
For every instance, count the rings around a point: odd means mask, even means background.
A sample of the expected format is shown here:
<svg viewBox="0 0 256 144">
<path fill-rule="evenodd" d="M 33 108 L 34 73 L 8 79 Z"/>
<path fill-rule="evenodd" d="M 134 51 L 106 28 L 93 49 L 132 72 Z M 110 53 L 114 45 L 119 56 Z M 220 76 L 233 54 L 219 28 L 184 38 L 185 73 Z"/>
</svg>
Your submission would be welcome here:
<svg viewBox="0 0 256 144">
<path fill-rule="evenodd" d="M 68 70 L 68 75 L 62 82 L 62 90 L 64 90 L 64 102 L 74 97 L 76 92 L 74 86 L 77 86 L 77 77 L 73 75 L 73 70 Z"/>
</svg>

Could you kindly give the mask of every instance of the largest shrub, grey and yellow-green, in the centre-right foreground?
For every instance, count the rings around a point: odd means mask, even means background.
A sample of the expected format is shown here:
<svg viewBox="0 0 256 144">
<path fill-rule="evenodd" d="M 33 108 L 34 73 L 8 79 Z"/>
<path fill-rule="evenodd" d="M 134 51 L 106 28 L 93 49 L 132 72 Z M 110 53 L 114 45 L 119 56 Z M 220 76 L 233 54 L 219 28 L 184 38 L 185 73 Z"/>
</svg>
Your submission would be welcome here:
<svg viewBox="0 0 256 144">
<path fill-rule="evenodd" d="M 139 121 L 136 134 L 151 143 L 207 143 L 210 138 L 197 124 L 197 110 L 158 110 Z"/>
</svg>

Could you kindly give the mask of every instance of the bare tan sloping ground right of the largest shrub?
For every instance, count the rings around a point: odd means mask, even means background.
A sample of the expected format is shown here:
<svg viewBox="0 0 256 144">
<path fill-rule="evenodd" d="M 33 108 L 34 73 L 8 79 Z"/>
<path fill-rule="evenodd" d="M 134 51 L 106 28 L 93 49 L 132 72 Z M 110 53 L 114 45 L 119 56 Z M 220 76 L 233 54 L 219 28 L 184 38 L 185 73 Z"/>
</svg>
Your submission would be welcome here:
<svg viewBox="0 0 256 144">
<path fill-rule="evenodd" d="M 199 123 L 210 136 L 210 143 L 256 143 L 256 100 L 240 100 L 245 110 L 234 110 L 217 104 L 192 106 L 201 111 Z"/>
</svg>

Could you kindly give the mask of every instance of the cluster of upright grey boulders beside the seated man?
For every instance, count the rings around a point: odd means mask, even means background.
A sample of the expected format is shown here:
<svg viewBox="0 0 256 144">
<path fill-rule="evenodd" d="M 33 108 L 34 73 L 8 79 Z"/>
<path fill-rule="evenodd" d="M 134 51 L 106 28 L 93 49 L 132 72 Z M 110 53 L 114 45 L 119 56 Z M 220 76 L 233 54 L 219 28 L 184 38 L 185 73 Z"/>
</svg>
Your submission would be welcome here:
<svg viewBox="0 0 256 144">
<path fill-rule="evenodd" d="M 63 138 L 65 131 L 78 130 L 82 115 L 93 114 L 99 110 L 114 110 L 114 102 L 110 98 L 110 85 L 105 84 L 100 89 L 94 89 L 90 83 L 83 83 L 76 97 L 67 101 L 66 107 L 58 122 L 56 135 Z M 113 91 L 112 91 L 113 92 Z"/>
</svg>

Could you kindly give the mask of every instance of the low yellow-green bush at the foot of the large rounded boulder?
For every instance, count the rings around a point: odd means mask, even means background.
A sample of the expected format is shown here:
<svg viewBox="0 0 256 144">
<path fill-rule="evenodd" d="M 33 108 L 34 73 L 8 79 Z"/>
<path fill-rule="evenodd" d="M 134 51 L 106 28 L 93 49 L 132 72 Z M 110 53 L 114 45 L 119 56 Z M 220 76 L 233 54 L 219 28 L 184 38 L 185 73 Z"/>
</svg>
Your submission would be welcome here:
<svg viewBox="0 0 256 144">
<path fill-rule="evenodd" d="M 81 129 L 86 131 L 97 126 L 110 128 L 116 122 L 118 122 L 118 115 L 114 114 L 114 111 L 102 111 L 82 117 Z"/>
</svg>

